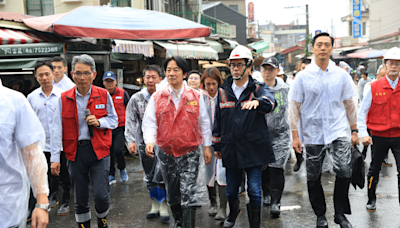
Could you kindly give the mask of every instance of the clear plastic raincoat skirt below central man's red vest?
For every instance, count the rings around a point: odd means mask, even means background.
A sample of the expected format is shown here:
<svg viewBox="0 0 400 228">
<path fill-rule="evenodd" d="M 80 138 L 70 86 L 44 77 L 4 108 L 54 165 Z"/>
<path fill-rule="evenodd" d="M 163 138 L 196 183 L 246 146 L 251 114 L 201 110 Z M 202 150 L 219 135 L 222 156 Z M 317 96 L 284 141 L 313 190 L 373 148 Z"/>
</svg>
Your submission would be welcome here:
<svg viewBox="0 0 400 228">
<path fill-rule="evenodd" d="M 167 190 L 167 201 L 171 206 L 180 204 L 192 207 L 208 203 L 205 163 L 200 147 L 177 158 L 160 151 L 158 158 Z"/>
</svg>

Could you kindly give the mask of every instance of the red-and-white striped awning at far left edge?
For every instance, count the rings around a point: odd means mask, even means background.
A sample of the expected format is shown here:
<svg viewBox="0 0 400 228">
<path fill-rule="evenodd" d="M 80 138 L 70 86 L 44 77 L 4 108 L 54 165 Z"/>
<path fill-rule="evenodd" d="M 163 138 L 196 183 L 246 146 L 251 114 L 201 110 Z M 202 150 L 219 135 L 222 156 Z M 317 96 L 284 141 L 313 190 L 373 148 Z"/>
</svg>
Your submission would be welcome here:
<svg viewBox="0 0 400 228">
<path fill-rule="evenodd" d="M 62 42 L 65 40 L 63 37 L 43 32 L 0 29 L 1 45 Z"/>
</svg>

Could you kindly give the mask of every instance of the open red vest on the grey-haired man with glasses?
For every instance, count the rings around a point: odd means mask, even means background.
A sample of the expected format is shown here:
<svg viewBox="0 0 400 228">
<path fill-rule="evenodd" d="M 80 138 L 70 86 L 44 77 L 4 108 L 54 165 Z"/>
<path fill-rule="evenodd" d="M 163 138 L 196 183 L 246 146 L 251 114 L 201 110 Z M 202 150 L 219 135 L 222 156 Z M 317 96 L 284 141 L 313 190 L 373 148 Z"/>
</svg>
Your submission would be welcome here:
<svg viewBox="0 0 400 228">
<path fill-rule="evenodd" d="M 61 94 L 62 101 L 62 139 L 65 156 L 70 161 L 75 161 L 76 150 L 78 147 L 79 121 L 76 109 L 75 87 Z M 103 109 L 96 109 L 96 105 L 104 106 Z M 92 85 L 92 92 L 87 104 L 87 108 L 97 119 L 107 115 L 107 90 Z M 110 154 L 112 142 L 111 129 L 98 129 L 93 127 L 92 141 L 94 152 L 97 159 L 102 159 Z"/>
</svg>

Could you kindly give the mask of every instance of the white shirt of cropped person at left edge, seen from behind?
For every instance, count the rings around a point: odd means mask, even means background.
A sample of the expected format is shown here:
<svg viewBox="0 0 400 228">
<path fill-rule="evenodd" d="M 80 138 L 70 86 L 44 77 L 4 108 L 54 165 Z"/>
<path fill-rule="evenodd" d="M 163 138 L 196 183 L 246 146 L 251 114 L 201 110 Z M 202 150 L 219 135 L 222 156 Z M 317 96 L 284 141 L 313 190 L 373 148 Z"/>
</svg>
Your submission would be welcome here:
<svg viewBox="0 0 400 228">
<path fill-rule="evenodd" d="M 45 133 L 25 96 L 0 80 L 0 227 L 26 223 L 29 182 L 19 149 L 44 141 Z"/>
</svg>

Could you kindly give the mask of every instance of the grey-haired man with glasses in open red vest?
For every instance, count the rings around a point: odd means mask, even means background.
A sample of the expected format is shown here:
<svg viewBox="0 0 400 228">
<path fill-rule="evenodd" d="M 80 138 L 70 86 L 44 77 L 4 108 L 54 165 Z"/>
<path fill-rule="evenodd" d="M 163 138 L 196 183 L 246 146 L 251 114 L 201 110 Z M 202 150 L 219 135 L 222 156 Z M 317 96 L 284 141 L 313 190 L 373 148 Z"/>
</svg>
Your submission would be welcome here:
<svg viewBox="0 0 400 228">
<path fill-rule="evenodd" d="M 97 75 L 93 58 L 75 56 L 71 65 L 76 86 L 61 94 L 54 114 L 51 172 L 60 175 L 63 148 L 74 188 L 78 226 L 90 227 L 89 184 L 92 181 L 98 227 L 108 227 L 111 130 L 117 127 L 118 116 L 107 90 L 92 85 Z"/>
</svg>

